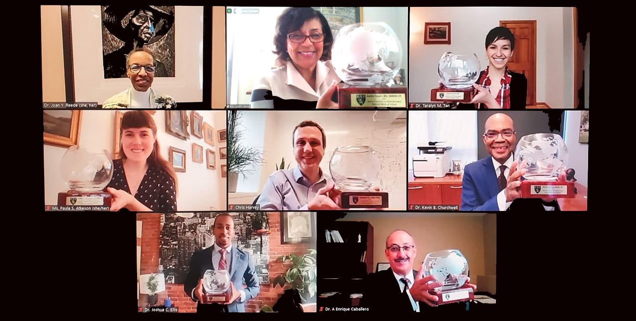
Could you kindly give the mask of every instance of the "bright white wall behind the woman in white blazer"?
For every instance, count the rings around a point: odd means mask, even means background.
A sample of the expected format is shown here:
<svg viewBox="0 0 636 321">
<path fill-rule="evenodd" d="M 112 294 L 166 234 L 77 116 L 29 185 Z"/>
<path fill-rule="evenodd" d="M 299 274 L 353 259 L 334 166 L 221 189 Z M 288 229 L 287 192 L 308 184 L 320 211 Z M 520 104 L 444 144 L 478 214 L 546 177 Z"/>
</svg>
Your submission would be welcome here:
<svg viewBox="0 0 636 321">
<path fill-rule="evenodd" d="M 228 72 L 227 75 L 231 84 L 228 103 L 249 104 L 250 96 L 245 93 L 252 91 L 254 81 L 275 67 L 273 36 L 276 20 L 286 8 L 258 7 L 258 14 L 226 15 L 228 71 L 232 68 L 232 74 Z M 385 22 L 396 32 L 404 51 L 401 69 L 408 79 L 408 9 L 363 7 L 362 11 L 363 22 Z"/>
</svg>

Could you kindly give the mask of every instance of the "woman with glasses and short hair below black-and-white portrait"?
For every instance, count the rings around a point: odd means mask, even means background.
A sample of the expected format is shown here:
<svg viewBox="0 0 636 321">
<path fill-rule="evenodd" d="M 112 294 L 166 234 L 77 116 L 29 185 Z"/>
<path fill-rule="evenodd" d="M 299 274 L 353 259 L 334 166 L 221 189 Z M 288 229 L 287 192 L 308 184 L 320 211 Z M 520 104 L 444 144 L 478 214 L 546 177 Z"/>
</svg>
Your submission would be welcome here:
<svg viewBox="0 0 636 321">
<path fill-rule="evenodd" d="M 102 108 L 176 108 L 172 97 L 159 95 L 150 88 L 155 79 L 155 56 L 146 48 L 130 51 L 126 58 L 126 75 L 130 88 L 108 98 Z"/>
</svg>

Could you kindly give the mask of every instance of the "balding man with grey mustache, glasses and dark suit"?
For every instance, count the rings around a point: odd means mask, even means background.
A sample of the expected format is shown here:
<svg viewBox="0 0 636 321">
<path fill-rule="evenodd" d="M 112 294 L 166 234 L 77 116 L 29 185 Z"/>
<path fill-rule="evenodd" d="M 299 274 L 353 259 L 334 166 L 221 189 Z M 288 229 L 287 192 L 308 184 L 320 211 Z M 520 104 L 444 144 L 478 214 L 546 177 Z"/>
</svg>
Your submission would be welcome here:
<svg viewBox="0 0 636 321">
<path fill-rule="evenodd" d="M 384 254 L 391 268 L 368 275 L 366 289 L 360 301 L 361 306 L 369 308 L 370 311 L 396 312 L 419 312 L 427 305 L 437 306 L 437 296 L 429 291 L 441 286 L 441 283 L 432 275 L 424 277 L 423 269 L 413 270 L 417 246 L 410 233 L 404 230 L 391 233 L 387 237 Z M 467 282 L 470 282 L 470 278 Z M 474 284 L 467 284 L 473 289 L 477 288 Z M 451 303 L 449 306 L 456 305 Z"/>
</svg>

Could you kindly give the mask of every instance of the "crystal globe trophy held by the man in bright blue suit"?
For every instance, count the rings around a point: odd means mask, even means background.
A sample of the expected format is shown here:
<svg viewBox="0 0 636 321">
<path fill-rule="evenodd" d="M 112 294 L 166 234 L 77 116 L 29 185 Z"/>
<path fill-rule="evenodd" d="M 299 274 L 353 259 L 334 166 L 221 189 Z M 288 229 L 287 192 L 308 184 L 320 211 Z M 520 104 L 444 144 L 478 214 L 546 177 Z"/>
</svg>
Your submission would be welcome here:
<svg viewBox="0 0 636 321">
<path fill-rule="evenodd" d="M 521 197 L 574 197 L 574 182 L 558 181 L 567 169 L 567 147 L 558 134 L 523 136 L 515 150 L 518 166 L 525 161 Z M 517 167 L 522 169 L 522 167 Z"/>
</svg>

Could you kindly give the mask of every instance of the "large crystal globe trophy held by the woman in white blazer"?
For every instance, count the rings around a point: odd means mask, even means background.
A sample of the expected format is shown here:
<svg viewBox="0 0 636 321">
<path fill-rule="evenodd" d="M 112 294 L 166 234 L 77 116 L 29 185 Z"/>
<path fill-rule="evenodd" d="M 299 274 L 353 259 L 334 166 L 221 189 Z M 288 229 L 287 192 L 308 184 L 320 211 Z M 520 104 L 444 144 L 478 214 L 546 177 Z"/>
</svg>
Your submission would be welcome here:
<svg viewBox="0 0 636 321">
<path fill-rule="evenodd" d="M 406 86 L 389 82 L 400 71 L 402 46 L 383 22 L 342 27 L 331 48 L 340 108 L 406 107 Z"/>
</svg>

